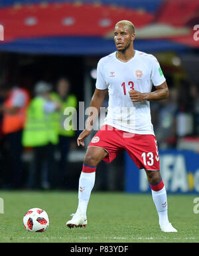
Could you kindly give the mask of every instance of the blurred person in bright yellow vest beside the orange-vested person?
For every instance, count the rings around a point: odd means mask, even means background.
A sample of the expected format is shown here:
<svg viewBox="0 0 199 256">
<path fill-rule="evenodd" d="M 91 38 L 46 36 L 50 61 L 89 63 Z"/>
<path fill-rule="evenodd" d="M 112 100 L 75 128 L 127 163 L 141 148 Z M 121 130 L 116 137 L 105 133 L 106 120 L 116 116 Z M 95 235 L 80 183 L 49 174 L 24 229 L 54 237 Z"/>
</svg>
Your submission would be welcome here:
<svg viewBox="0 0 199 256">
<path fill-rule="evenodd" d="M 27 122 L 23 130 L 23 146 L 33 148 L 34 189 L 54 188 L 56 177 L 55 149 L 58 132 L 53 114 L 61 105 L 50 99 L 52 85 L 39 81 L 34 87 L 35 96 L 27 111 Z M 46 167 L 46 172 L 44 172 Z M 44 174 L 47 174 L 44 184 Z"/>
</svg>

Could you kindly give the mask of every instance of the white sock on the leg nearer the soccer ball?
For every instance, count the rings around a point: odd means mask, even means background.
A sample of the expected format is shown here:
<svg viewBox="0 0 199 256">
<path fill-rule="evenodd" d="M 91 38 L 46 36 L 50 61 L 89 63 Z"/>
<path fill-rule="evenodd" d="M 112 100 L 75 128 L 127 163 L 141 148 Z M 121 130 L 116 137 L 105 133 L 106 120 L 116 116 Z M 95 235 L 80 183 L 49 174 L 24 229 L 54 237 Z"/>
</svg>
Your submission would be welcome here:
<svg viewBox="0 0 199 256">
<path fill-rule="evenodd" d="M 86 216 L 86 211 L 88 207 L 88 201 L 90 199 L 90 194 L 94 188 L 96 180 L 96 172 L 85 173 L 82 172 L 79 180 L 79 191 L 78 191 L 78 209 L 81 213 Z"/>
</svg>

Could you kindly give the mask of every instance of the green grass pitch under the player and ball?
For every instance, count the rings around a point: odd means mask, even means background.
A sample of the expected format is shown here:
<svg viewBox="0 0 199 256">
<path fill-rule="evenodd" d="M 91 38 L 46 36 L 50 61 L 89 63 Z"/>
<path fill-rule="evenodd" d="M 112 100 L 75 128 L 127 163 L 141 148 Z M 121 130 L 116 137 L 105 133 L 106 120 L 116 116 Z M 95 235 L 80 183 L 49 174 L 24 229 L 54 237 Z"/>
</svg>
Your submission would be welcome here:
<svg viewBox="0 0 199 256">
<path fill-rule="evenodd" d="M 168 194 L 168 216 L 178 233 L 163 233 L 151 194 L 93 192 L 88 205 L 88 225 L 69 229 L 66 221 L 78 203 L 76 192 L 1 191 L 4 213 L 0 214 L 0 243 L 198 243 L 197 195 Z M 43 233 L 23 227 L 28 209 L 47 211 L 50 225 Z"/>
</svg>

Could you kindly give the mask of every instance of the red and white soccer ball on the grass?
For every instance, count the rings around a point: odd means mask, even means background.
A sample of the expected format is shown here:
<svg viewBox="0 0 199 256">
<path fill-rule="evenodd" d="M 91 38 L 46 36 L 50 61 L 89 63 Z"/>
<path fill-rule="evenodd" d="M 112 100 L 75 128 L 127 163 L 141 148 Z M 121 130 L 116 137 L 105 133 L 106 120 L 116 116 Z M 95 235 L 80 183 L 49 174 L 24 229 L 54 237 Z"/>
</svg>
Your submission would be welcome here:
<svg viewBox="0 0 199 256">
<path fill-rule="evenodd" d="M 29 209 L 23 217 L 23 225 L 28 231 L 44 232 L 49 225 L 48 214 L 40 208 Z"/>
</svg>

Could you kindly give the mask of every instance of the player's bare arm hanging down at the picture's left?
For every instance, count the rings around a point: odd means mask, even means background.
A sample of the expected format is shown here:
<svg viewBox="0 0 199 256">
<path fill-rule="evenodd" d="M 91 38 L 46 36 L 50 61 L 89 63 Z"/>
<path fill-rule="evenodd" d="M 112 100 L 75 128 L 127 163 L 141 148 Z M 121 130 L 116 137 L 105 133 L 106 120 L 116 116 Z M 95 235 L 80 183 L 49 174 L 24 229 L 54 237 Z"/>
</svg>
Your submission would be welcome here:
<svg viewBox="0 0 199 256">
<path fill-rule="evenodd" d="M 105 98 L 105 94 L 107 93 L 107 89 L 99 90 L 96 88 L 94 95 L 92 96 L 92 100 L 90 102 L 90 114 L 88 116 L 88 120 L 86 123 L 86 128 L 83 132 L 81 132 L 80 136 L 78 136 L 78 146 L 84 146 L 84 139 L 90 135 L 92 130 L 92 126 L 96 118 L 98 118 L 98 114 L 100 113 L 100 108 Z"/>
</svg>

